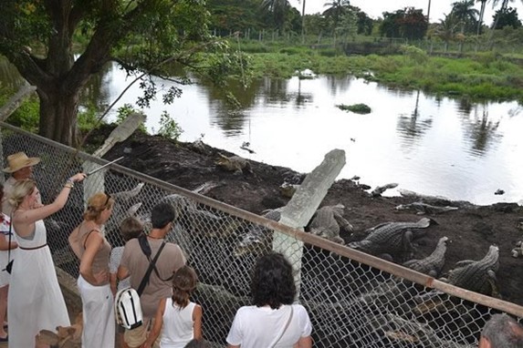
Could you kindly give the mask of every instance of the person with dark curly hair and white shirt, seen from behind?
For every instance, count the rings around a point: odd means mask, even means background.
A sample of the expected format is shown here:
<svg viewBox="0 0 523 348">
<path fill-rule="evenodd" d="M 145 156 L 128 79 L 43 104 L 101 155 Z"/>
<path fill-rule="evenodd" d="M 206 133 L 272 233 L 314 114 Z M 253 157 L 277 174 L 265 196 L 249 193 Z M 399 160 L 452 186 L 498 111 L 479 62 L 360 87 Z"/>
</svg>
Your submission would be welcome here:
<svg viewBox="0 0 523 348">
<path fill-rule="evenodd" d="M 241 307 L 227 335 L 228 348 L 310 348 L 312 324 L 300 304 L 292 265 L 280 253 L 260 257 L 251 282 L 253 306 Z"/>
</svg>

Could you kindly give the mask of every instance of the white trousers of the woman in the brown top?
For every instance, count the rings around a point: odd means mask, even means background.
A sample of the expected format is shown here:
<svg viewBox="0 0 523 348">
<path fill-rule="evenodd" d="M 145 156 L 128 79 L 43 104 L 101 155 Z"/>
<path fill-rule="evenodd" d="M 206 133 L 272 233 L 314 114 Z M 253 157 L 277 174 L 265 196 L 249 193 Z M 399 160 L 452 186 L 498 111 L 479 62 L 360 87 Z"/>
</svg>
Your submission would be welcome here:
<svg viewBox="0 0 523 348">
<path fill-rule="evenodd" d="M 110 284 L 93 286 L 78 277 L 82 298 L 82 348 L 114 348 L 115 319 Z"/>
</svg>

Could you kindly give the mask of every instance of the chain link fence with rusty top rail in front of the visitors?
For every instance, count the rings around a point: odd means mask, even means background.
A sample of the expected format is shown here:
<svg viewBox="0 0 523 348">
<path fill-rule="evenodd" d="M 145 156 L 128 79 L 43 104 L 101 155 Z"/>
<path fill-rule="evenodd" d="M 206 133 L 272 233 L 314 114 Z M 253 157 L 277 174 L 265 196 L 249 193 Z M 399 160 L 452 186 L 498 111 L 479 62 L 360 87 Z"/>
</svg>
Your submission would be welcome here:
<svg viewBox="0 0 523 348">
<path fill-rule="evenodd" d="M 107 163 L 0 126 L 3 168 L 6 156 L 17 151 L 42 159 L 34 174 L 44 203 L 73 173 Z M 236 310 L 250 303 L 256 258 L 271 250 L 284 252 L 294 265 L 298 302 L 309 312 L 315 347 L 476 347 L 492 314 L 523 317 L 523 307 L 514 303 L 455 288 L 200 194 L 210 189 L 212 184 L 189 191 L 118 165 L 102 169 L 75 186 L 66 207 L 46 220 L 55 264 L 78 276 L 68 234 L 82 219 L 86 197 L 103 190 L 116 200 L 105 226 L 113 247 L 123 245 L 118 227 L 125 217 L 147 223 L 155 204 L 173 204 L 177 219 L 168 240 L 182 247 L 199 275 L 194 301 L 204 308 L 204 338 L 216 347 L 225 346 Z"/>
</svg>

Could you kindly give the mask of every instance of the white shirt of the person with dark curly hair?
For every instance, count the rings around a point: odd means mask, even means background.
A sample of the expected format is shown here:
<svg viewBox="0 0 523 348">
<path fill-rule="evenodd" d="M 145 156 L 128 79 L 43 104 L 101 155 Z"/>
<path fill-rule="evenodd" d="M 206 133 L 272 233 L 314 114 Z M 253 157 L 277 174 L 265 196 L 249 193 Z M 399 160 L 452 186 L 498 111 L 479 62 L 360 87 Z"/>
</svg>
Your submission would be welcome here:
<svg viewBox="0 0 523 348">
<path fill-rule="evenodd" d="M 301 337 L 312 333 L 309 314 L 301 304 L 292 304 L 292 319 L 277 341 L 277 348 L 292 348 Z M 277 310 L 269 307 L 244 306 L 236 312 L 235 320 L 227 335 L 227 343 L 242 348 L 271 347 L 285 330 L 290 315 L 290 305 Z"/>
</svg>

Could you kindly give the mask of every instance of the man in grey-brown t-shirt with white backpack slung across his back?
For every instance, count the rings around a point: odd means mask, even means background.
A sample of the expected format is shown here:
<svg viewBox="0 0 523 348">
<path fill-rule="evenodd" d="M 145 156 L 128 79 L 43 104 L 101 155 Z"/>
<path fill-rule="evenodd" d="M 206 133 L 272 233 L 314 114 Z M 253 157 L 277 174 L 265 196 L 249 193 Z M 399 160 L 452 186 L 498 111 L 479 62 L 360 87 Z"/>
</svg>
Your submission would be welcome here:
<svg viewBox="0 0 523 348">
<path fill-rule="evenodd" d="M 124 333 L 124 341 L 131 348 L 140 347 L 147 339 L 160 300 L 172 295 L 173 272 L 186 263 L 180 246 L 164 241 L 173 228 L 174 218 L 175 211 L 171 204 L 157 204 L 151 213 L 151 232 L 128 241 L 123 250 L 118 278 L 122 280 L 130 276 L 131 288 L 137 291 L 141 282 L 145 281 L 140 295 L 143 324 Z"/>
</svg>

